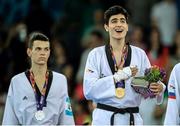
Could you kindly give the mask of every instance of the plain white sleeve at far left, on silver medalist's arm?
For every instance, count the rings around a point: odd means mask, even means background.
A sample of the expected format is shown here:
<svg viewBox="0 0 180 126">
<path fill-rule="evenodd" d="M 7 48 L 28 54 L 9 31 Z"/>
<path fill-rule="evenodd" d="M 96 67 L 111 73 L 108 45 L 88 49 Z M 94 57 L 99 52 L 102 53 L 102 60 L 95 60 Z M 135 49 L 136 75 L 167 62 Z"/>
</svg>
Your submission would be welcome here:
<svg viewBox="0 0 180 126">
<path fill-rule="evenodd" d="M 13 98 L 13 81 L 11 81 L 7 99 L 6 99 L 6 105 L 5 105 L 2 125 L 17 125 L 17 124 L 19 124 L 16 114 L 14 112 L 13 100 L 14 100 L 14 98 Z"/>
</svg>

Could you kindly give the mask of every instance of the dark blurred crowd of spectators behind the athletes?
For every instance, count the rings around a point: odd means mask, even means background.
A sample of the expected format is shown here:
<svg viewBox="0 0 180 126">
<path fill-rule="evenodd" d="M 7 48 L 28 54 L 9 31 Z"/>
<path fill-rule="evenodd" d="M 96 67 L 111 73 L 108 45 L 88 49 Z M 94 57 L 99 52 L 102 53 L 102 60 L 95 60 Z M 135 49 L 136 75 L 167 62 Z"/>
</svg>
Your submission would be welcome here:
<svg viewBox="0 0 180 126">
<path fill-rule="evenodd" d="M 108 41 L 103 13 L 112 5 L 128 10 L 127 41 L 166 70 L 167 84 L 172 67 L 180 62 L 180 0 L 0 0 L 0 123 L 10 79 L 29 68 L 26 38 L 32 31 L 50 38 L 49 68 L 68 78 L 76 124 L 91 123 L 96 105 L 83 96 L 84 66 L 89 51 Z M 160 106 L 143 100 L 144 123 L 163 124 L 166 102 L 167 95 Z"/>
</svg>

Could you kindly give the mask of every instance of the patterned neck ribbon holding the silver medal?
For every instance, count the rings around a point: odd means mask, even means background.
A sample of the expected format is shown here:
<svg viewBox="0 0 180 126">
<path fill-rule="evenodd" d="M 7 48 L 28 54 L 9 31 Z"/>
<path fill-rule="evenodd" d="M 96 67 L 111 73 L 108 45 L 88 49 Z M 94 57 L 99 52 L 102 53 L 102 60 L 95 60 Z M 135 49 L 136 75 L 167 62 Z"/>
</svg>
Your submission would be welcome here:
<svg viewBox="0 0 180 126">
<path fill-rule="evenodd" d="M 30 82 L 31 82 L 31 86 L 35 94 L 37 110 L 42 110 L 43 106 L 45 105 L 45 94 L 46 94 L 46 89 L 47 89 L 47 84 L 48 84 L 48 76 L 49 76 L 49 72 L 46 72 L 46 80 L 43 85 L 43 89 L 40 92 L 41 96 L 39 98 L 36 87 L 35 87 L 36 82 L 34 80 L 34 74 L 32 71 L 30 71 Z"/>
</svg>

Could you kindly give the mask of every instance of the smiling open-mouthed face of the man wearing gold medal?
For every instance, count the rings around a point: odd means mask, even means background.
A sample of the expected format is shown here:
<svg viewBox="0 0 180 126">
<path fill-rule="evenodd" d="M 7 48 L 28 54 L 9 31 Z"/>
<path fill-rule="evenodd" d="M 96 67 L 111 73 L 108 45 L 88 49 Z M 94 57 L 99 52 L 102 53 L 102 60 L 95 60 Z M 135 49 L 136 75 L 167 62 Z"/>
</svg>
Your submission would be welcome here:
<svg viewBox="0 0 180 126">
<path fill-rule="evenodd" d="M 108 25 L 104 25 L 106 31 L 109 32 L 110 38 L 123 39 L 128 31 L 126 18 L 122 14 L 112 15 Z"/>
</svg>

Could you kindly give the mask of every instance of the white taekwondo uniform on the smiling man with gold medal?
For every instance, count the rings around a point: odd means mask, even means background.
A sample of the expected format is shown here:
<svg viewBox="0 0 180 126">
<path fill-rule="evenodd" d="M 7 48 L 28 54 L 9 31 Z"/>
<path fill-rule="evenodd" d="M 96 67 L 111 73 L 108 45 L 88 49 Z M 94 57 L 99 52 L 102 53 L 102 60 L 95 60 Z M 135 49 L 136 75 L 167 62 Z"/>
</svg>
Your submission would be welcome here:
<svg viewBox="0 0 180 126">
<path fill-rule="evenodd" d="M 132 77 L 125 81 L 125 96 L 121 99 L 116 97 L 113 73 L 111 65 L 108 63 L 106 46 L 97 47 L 88 55 L 83 82 L 83 91 L 86 99 L 116 108 L 138 107 L 142 96 L 131 87 Z M 127 58 L 130 58 L 130 65 L 136 65 L 138 68 L 136 75 L 143 76 L 145 69 L 151 66 L 146 53 L 135 46 L 129 45 L 128 48 Z M 110 57 L 112 56 L 110 55 Z M 165 87 L 163 86 L 163 88 Z M 157 103 L 162 103 L 163 93 L 157 96 L 156 99 Z M 113 112 L 111 111 L 96 108 L 93 111 L 92 124 L 110 125 L 112 114 Z M 134 124 L 142 125 L 143 120 L 140 114 L 133 113 L 133 115 Z M 129 119 L 129 113 L 116 114 L 114 124 L 129 125 Z"/>
</svg>

